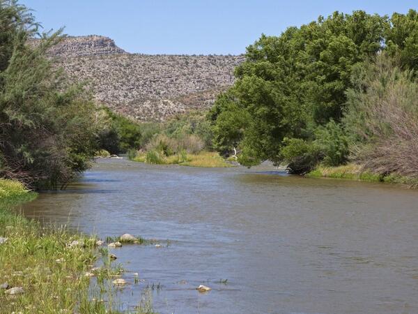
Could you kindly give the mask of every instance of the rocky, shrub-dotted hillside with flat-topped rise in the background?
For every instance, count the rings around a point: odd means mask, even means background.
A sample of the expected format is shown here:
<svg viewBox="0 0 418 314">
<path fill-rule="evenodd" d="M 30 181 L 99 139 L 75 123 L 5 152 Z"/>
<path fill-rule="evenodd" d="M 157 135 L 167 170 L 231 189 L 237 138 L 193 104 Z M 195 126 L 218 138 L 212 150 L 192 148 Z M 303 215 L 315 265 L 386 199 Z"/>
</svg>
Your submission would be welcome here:
<svg viewBox="0 0 418 314">
<path fill-rule="evenodd" d="M 68 37 L 49 54 L 72 82 L 86 81 L 95 98 L 141 121 L 162 121 L 212 105 L 234 82 L 242 56 L 130 54 L 103 36 Z"/>
</svg>

